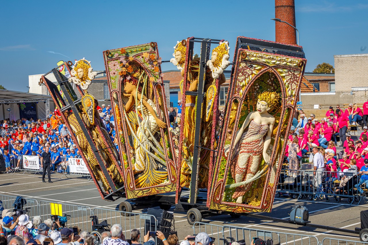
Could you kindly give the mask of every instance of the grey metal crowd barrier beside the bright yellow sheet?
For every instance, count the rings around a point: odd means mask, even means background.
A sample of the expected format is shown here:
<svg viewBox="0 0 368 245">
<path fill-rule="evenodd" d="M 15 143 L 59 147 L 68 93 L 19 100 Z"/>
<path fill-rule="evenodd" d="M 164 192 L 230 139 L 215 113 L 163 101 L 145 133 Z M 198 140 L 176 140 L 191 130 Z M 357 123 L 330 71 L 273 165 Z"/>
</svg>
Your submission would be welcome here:
<svg viewBox="0 0 368 245">
<path fill-rule="evenodd" d="M 51 202 L 40 201 L 39 215 L 41 220 L 51 219 L 52 209 Z M 82 231 L 92 231 L 91 225 L 91 208 L 86 206 L 71 205 L 61 203 L 63 215 L 70 215 L 70 220 L 67 221 L 68 227 L 78 226 Z"/>
</svg>

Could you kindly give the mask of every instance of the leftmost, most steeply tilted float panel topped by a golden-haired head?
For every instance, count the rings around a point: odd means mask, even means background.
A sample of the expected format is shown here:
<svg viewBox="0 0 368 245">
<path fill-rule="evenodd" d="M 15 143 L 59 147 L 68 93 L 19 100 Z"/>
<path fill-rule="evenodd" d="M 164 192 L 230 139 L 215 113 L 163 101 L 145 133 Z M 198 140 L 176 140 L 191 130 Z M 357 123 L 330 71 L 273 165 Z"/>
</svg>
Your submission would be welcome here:
<svg viewBox="0 0 368 245">
<path fill-rule="evenodd" d="M 84 58 L 77 61 L 74 68 L 71 69 L 71 66 L 70 61 L 65 63 L 71 74 L 69 79 L 59 72 L 58 67 L 50 71 L 56 77 L 68 104 L 60 96 L 56 84 L 45 77 L 50 72 L 43 75 L 40 81 L 49 90 L 57 109 L 61 112 L 64 124 L 73 132 L 71 137 L 82 152 L 82 158 L 87 163 L 86 166 L 102 198 L 114 200 L 116 197 L 125 196 L 123 172 L 116 146 L 97 113 L 97 100 L 87 92 L 97 73 Z M 77 86 L 81 99 L 78 99 L 71 83 Z"/>
</svg>

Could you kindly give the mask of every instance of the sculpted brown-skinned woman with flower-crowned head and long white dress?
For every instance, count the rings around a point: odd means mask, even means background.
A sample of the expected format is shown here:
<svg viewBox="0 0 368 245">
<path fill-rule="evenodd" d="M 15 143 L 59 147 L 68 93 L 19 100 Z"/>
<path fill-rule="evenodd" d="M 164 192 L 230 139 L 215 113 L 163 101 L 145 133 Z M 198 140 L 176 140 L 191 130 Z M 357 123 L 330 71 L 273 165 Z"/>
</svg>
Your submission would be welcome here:
<svg viewBox="0 0 368 245">
<path fill-rule="evenodd" d="M 166 128 L 166 123 L 158 117 L 160 115 L 164 118 L 164 114 L 144 95 L 144 81 L 147 82 L 148 77 L 143 69 L 133 63 L 127 63 L 127 66 L 127 70 L 131 72 L 123 80 L 123 96 L 128 98 L 124 111 L 127 113 L 128 128 L 131 129 L 132 151 L 135 156 L 133 172 L 142 173 L 142 176 L 136 179 L 136 185 L 146 187 L 161 184 L 167 178 L 167 171 L 163 169 L 166 164 L 156 133 L 160 128 Z"/>
</svg>

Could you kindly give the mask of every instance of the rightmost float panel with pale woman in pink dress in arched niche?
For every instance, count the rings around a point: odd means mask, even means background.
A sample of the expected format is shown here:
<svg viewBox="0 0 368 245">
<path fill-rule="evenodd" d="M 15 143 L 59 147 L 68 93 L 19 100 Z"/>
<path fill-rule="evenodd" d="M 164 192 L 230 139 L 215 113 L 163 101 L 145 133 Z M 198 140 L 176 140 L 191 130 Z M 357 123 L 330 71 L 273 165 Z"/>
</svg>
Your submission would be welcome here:
<svg viewBox="0 0 368 245">
<path fill-rule="evenodd" d="M 300 46 L 238 37 L 210 209 L 271 211 L 306 61 Z"/>
</svg>

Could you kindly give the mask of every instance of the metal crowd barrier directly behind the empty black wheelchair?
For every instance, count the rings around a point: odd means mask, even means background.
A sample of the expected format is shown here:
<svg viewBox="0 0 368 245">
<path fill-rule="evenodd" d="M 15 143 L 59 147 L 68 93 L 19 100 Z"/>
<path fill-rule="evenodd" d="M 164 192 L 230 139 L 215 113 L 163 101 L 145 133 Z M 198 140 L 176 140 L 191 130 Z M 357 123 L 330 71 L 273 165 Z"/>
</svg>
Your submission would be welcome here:
<svg viewBox="0 0 368 245">
<path fill-rule="evenodd" d="M 111 209 L 94 208 L 92 215 L 97 216 L 99 222 L 107 220 L 107 224 L 120 224 L 123 228 L 125 237 L 130 237 L 130 231 L 138 229 L 141 232 L 141 240 L 145 235 L 145 227 L 149 231 L 157 231 L 158 222 L 156 217 L 149 214 L 129 213 L 123 211 L 116 211 Z M 141 242 L 141 241 L 139 241 Z"/>
</svg>

